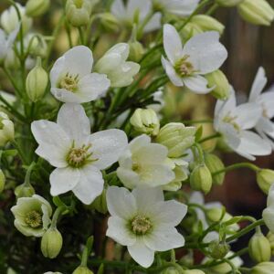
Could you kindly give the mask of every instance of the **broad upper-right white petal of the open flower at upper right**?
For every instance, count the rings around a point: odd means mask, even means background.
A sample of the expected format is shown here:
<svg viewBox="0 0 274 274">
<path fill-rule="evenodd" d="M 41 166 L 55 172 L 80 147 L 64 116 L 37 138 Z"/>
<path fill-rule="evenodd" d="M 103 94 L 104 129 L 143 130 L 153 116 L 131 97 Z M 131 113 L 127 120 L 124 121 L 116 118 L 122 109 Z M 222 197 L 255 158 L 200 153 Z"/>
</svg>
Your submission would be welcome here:
<svg viewBox="0 0 274 274">
<path fill-rule="evenodd" d="M 183 55 L 201 74 L 220 68 L 227 59 L 227 49 L 219 42 L 216 31 L 207 31 L 190 38 L 184 45 Z"/>
</svg>

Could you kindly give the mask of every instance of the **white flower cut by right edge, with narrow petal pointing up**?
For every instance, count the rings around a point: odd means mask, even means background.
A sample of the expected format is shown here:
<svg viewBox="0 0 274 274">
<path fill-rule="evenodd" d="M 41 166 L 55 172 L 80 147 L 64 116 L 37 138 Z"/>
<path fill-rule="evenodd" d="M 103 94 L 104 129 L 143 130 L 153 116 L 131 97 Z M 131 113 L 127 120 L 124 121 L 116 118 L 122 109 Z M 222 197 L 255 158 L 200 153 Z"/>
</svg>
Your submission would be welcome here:
<svg viewBox="0 0 274 274">
<path fill-rule="evenodd" d="M 274 89 L 261 94 L 267 84 L 266 72 L 264 68 L 258 68 L 257 76 L 253 82 L 249 101 L 258 103 L 261 108 L 261 116 L 255 126 L 256 131 L 261 137 L 269 141 L 274 150 L 274 123 L 271 119 L 274 117 Z"/>
</svg>

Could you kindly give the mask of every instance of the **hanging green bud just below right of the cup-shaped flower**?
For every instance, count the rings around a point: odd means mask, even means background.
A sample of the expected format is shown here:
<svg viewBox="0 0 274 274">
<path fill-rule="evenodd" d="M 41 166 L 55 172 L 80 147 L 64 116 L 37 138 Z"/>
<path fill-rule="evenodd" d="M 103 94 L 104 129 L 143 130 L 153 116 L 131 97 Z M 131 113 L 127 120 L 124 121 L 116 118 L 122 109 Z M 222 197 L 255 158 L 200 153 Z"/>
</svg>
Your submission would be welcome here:
<svg viewBox="0 0 274 274">
<path fill-rule="evenodd" d="M 62 248 L 63 237 L 58 229 L 49 227 L 41 240 L 41 251 L 46 258 L 56 258 Z"/>
</svg>

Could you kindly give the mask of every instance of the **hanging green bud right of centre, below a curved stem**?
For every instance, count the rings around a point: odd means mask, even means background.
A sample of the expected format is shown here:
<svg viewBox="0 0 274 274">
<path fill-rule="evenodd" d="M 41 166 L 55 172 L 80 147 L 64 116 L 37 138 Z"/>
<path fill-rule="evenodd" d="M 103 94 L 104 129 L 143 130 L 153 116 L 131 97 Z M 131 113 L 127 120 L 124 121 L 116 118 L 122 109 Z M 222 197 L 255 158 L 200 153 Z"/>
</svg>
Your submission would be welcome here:
<svg viewBox="0 0 274 274">
<path fill-rule="evenodd" d="M 193 190 L 203 191 L 205 194 L 211 190 L 212 176 L 205 163 L 197 165 L 190 174 L 190 186 Z"/>
</svg>

